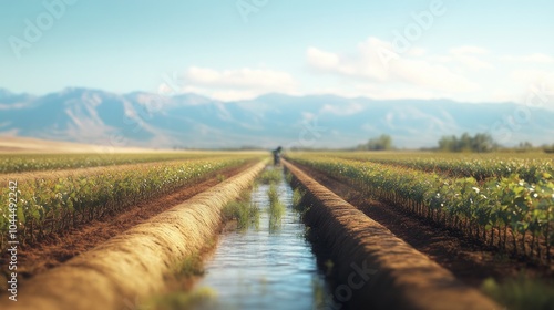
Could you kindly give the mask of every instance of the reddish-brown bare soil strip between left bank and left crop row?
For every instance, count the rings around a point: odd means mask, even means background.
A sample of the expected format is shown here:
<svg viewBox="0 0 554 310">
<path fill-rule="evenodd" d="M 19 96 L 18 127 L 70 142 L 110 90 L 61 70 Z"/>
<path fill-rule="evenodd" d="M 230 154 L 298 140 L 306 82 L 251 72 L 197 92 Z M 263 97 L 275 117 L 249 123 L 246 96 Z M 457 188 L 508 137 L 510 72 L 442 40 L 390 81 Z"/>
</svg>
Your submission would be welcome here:
<svg viewBox="0 0 554 310">
<path fill-rule="evenodd" d="M 129 228 L 215 186 L 220 183 L 216 175 L 220 174 L 228 178 L 245 168 L 246 166 L 240 166 L 213 173 L 198 180 L 197 184 L 154 200 L 143 202 L 116 216 L 93 220 L 86 225 L 50 236 L 40 242 L 23 246 L 18 251 L 18 275 L 27 279 L 57 267 Z M 9 257 L 4 254 L 0 258 L 0 265 L 7 266 L 4 265 L 8 261 L 7 259 Z"/>
</svg>

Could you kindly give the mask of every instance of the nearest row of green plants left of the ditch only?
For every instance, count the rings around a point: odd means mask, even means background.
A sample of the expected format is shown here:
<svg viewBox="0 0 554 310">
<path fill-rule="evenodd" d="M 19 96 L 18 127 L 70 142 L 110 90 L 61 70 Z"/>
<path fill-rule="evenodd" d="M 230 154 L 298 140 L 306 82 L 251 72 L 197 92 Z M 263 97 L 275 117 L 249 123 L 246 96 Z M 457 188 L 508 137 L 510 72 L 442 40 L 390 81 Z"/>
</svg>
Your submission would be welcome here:
<svg viewBox="0 0 554 310">
<path fill-rule="evenodd" d="M 138 202 L 193 185 L 208 175 L 256 158 L 229 156 L 140 164 L 124 169 L 107 167 L 94 174 L 76 170 L 64 177 L 10 179 L 17 182 L 17 199 L 10 194 L 14 189 L 13 183 L 2 180 L 0 248 L 3 250 L 7 246 L 11 215 L 9 206 L 16 209 L 19 241 L 35 241 L 50 234 L 117 214 Z"/>
</svg>

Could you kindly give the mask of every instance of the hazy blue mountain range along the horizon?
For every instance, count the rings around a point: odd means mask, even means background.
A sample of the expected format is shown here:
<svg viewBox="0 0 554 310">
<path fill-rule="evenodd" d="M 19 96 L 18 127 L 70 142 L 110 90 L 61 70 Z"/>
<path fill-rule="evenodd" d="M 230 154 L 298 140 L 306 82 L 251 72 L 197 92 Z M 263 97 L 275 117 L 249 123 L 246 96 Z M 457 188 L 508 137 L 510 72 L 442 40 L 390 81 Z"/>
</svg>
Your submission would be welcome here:
<svg viewBox="0 0 554 310">
<path fill-rule="evenodd" d="M 351 147 L 380 134 L 400 148 L 490 133 L 502 145 L 554 143 L 554 110 L 515 103 L 267 94 L 222 102 L 196 94 L 115 94 L 69 87 L 42 96 L 0 90 L 0 137 L 113 146 Z"/>
</svg>

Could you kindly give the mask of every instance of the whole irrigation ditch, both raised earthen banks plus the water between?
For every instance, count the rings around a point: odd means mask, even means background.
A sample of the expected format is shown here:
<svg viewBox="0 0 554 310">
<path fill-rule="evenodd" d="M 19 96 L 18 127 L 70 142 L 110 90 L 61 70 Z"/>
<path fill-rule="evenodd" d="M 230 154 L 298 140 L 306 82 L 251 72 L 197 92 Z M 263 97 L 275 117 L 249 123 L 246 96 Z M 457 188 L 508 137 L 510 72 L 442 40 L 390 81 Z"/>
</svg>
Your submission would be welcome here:
<svg viewBox="0 0 554 310">
<path fill-rule="evenodd" d="M 0 308 L 501 309 L 286 161 L 287 182 L 276 168 L 253 188 L 266 163 L 38 275 Z M 229 214 L 240 220 L 220 234 Z M 194 287 L 168 292 L 191 272 Z"/>
</svg>

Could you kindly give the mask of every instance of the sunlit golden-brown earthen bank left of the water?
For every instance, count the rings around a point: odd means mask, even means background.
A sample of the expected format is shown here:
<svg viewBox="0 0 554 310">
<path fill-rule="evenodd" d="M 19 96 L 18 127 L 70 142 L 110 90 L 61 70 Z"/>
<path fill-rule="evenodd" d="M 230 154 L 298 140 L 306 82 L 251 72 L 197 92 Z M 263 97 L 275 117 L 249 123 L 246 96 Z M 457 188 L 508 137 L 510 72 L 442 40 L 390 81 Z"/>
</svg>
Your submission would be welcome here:
<svg viewBox="0 0 554 310">
<path fill-rule="evenodd" d="M 20 283 L 1 309 L 130 309 L 164 288 L 164 276 L 218 232 L 222 207 L 247 188 L 265 163 L 201 193 L 66 264 Z"/>
</svg>

